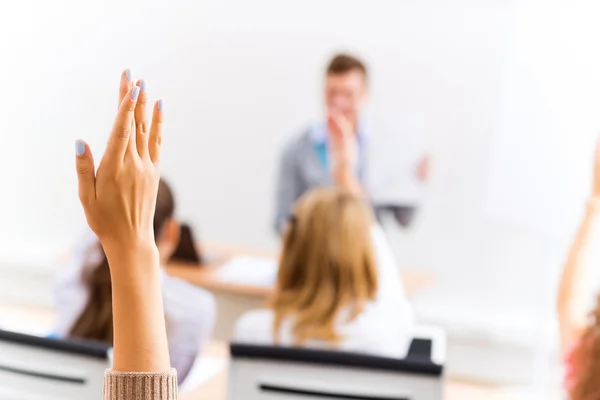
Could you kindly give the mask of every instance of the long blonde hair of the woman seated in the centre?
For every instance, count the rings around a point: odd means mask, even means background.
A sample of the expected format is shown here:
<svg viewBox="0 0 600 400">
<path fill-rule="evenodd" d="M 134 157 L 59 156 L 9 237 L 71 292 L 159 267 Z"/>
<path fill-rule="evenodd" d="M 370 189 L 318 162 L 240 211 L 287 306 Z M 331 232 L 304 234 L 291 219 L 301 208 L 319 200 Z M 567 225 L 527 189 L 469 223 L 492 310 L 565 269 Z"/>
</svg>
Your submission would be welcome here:
<svg viewBox="0 0 600 400">
<path fill-rule="evenodd" d="M 315 189 L 298 201 L 271 299 L 276 341 L 286 318 L 296 345 L 342 340 L 340 312 L 352 321 L 377 293 L 372 221 L 362 199 L 339 189 Z"/>
</svg>

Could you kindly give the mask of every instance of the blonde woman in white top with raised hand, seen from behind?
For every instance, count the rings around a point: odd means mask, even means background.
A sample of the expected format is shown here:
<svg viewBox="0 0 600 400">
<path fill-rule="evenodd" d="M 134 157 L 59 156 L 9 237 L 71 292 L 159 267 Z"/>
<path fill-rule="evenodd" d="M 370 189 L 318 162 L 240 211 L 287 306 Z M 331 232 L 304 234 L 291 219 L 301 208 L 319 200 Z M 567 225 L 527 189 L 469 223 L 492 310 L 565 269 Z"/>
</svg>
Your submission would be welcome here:
<svg viewBox="0 0 600 400">
<path fill-rule="evenodd" d="M 240 343 L 406 355 L 413 314 L 386 238 L 354 176 L 347 121 L 332 115 L 336 188 L 300 198 L 288 223 L 269 307 L 244 314 Z"/>
</svg>

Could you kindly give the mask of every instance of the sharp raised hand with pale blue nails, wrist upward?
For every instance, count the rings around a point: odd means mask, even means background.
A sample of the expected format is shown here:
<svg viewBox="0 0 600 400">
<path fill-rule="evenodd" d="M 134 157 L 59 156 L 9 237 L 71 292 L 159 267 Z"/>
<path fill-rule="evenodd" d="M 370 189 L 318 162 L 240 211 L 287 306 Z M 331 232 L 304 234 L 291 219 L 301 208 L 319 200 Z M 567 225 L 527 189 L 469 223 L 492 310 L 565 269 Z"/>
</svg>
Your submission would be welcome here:
<svg viewBox="0 0 600 400">
<path fill-rule="evenodd" d="M 91 149 L 76 142 L 79 198 L 90 228 L 107 255 L 124 247 L 155 249 L 153 219 L 158 191 L 162 102 L 147 120 L 145 82 L 121 75 L 120 105 L 95 172 Z"/>
</svg>

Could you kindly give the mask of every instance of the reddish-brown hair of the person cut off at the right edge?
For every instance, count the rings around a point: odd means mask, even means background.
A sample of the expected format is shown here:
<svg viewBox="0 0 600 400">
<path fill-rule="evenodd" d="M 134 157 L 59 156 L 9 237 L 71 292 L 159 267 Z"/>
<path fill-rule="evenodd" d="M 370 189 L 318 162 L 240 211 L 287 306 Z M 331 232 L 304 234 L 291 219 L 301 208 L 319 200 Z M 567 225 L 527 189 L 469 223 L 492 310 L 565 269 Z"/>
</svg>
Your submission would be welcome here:
<svg viewBox="0 0 600 400">
<path fill-rule="evenodd" d="M 600 399 L 600 296 L 589 314 L 589 321 L 571 356 L 572 400 Z"/>
</svg>

